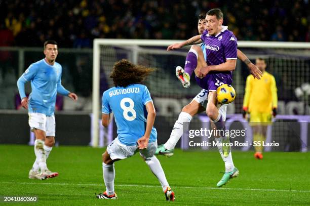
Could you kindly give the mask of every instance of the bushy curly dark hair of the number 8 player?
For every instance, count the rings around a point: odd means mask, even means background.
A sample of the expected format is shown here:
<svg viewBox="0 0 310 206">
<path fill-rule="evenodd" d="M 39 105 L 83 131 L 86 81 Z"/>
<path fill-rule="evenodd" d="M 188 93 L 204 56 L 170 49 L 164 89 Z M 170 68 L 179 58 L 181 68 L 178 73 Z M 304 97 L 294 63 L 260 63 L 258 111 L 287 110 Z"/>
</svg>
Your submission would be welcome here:
<svg viewBox="0 0 310 206">
<path fill-rule="evenodd" d="M 153 68 L 134 65 L 127 59 L 122 59 L 114 64 L 110 78 L 113 79 L 115 87 L 127 87 L 132 84 L 141 84 L 152 71 L 154 71 Z"/>
</svg>

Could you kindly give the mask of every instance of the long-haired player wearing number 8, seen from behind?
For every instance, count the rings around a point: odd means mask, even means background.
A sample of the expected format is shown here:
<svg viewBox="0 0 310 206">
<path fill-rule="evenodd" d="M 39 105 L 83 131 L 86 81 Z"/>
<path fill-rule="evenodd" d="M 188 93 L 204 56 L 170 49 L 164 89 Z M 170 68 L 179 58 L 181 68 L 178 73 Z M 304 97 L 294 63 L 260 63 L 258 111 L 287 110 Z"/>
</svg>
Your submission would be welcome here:
<svg viewBox="0 0 310 206">
<path fill-rule="evenodd" d="M 174 201 L 161 163 L 154 156 L 157 149 L 157 131 L 153 127 L 155 108 L 146 86 L 141 85 L 153 69 L 134 65 L 128 60 L 115 63 L 110 77 L 115 87 L 102 96 L 102 125 L 107 127 L 112 112 L 118 128 L 115 138 L 102 155 L 103 179 L 106 191 L 97 195 L 99 199 L 116 199 L 114 191 L 114 162 L 139 152 L 152 173 L 158 178 L 166 200 Z"/>
</svg>

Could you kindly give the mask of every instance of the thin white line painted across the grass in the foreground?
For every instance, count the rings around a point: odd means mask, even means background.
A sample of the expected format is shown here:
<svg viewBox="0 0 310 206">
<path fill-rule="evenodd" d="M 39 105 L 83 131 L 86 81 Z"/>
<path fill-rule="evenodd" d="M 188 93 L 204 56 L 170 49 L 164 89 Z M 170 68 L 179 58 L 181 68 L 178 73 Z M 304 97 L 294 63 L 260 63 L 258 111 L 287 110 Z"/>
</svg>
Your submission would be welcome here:
<svg viewBox="0 0 310 206">
<path fill-rule="evenodd" d="M 37 182 L 0 182 L 0 184 L 26 184 L 26 185 L 76 185 L 76 186 L 104 186 L 104 184 L 75 184 L 75 183 L 37 183 Z M 135 184 L 115 184 L 120 187 L 160 187 L 155 185 L 135 185 Z M 310 190 L 279 190 L 279 189 L 256 189 L 256 188 L 228 188 L 228 187 L 190 187 L 190 186 L 175 186 L 175 188 L 186 189 L 213 189 L 213 190 L 250 190 L 250 191 L 275 191 L 275 192 L 310 192 Z"/>
</svg>

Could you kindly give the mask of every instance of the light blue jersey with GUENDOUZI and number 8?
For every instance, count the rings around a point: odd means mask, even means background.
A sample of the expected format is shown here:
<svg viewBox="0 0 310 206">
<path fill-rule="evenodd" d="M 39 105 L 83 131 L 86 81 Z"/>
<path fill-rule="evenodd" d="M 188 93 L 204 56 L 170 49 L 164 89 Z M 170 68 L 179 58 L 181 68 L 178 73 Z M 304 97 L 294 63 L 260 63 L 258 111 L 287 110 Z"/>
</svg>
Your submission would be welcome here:
<svg viewBox="0 0 310 206">
<path fill-rule="evenodd" d="M 146 86 L 133 84 L 126 88 L 112 87 L 102 96 L 102 113 L 113 112 L 118 127 L 118 138 L 125 145 L 136 145 L 145 133 L 147 111 L 145 104 L 152 101 Z M 153 127 L 149 142 L 157 139 Z"/>
</svg>

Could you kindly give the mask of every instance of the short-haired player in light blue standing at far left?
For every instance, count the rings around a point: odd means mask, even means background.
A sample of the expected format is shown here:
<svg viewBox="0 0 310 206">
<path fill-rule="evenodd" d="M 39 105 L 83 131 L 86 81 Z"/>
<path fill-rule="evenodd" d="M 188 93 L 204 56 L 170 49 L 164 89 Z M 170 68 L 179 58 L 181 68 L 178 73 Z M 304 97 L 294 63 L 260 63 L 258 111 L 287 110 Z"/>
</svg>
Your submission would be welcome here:
<svg viewBox="0 0 310 206">
<path fill-rule="evenodd" d="M 45 58 L 31 64 L 19 77 L 17 87 L 21 105 L 28 109 L 29 126 L 35 135 L 34 153 L 36 159 L 29 171 L 30 179 L 47 179 L 57 177 L 58 173 L 47 168 L 46 159 L 55 143 L 55 103 L 57 93 L 78 100 L 61 85 L 62 67 L 55 62 L 58 55 L 57 43 L 48 40 L 44 43 Z M 25 83 L 30 81 L 29 100 L 25 94 Z"/>
</svg>

